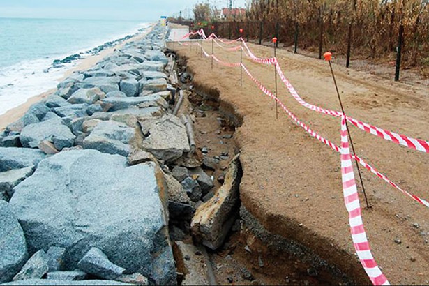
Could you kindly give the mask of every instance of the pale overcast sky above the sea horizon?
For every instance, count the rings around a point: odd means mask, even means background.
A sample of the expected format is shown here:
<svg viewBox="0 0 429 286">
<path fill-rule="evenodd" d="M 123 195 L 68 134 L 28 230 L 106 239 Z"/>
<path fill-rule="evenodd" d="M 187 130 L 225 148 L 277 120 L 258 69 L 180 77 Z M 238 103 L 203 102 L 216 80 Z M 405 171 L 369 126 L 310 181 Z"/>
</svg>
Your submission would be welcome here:
<svg viewBox="0 0 429 286">
<path fill-rule="evenodd" d="M 154 21 L 161 15 L 192 15 L 202 0 L 0 0 L 0 17 Z M 219 8 L 228 0 L 210 0 Z M 245 7 L 246 0 L 234 0 Z"/>
</svg>

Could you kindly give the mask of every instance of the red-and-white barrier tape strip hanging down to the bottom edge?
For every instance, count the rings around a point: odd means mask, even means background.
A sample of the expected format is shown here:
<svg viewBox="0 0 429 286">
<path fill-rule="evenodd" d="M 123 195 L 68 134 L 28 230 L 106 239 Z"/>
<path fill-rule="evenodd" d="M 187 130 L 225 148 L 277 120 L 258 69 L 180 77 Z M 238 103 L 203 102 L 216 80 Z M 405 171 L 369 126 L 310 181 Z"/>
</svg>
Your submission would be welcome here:
<svg viewBox="0 0 429 286">
<path fill-rule="evenodd" d="M 386 276 L 379 269 L 374 257 L 372 257 L 370 243 L 368 243 L 365 228 L 363 227 L 361 204 L 359 203 L 359 195 L 354 179 L 344 115 L 341 118 L 341 177 L 343 179 L 344 202 L 349 213 L 350 232 L 356 254 L 372 284 L 390 285 Z"/>
</svg>

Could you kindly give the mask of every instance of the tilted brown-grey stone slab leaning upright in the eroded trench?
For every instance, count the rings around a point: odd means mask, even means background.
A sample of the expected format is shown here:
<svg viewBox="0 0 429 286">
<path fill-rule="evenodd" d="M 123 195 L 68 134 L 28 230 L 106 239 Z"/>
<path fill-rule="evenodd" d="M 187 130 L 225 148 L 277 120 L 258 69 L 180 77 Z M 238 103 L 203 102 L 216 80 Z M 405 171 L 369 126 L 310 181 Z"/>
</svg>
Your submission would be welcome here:
<svg viewBox="0 0 429 286">
<path fill-rule="evenodd" d="M 225 182 L 210 200 L 201 204 L 190 226 L 197 241 L 213 250 L 222 246 L 239 213 L 239 185 L 242 170 L 239 155 L 229 163 Z M 28 179 L 27 179 L 28 180 Z M 24 181 L 25 182 L 25 181 Z"/>
</svg>

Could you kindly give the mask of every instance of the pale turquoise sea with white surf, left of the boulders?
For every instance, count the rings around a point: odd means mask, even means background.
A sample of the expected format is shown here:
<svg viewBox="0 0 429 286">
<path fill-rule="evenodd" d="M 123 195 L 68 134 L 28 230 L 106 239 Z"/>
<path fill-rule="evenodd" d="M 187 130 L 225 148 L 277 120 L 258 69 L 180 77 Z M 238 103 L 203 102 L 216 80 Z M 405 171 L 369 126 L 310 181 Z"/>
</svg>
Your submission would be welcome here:
<svg viewBox="0 0 429 286">
<path fill-rule="evenodd" d="M 0 115 L 53 89 L 69 68 L 148 22 L 0 17 Z"/>
</svg>

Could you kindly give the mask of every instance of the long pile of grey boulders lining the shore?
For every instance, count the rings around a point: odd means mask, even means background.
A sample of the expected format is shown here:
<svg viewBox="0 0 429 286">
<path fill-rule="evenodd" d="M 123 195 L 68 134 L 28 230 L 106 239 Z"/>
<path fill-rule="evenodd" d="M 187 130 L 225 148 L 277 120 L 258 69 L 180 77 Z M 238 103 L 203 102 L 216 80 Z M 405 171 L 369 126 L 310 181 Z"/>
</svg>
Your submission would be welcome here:
<svg viewBox="0 0 429 286">
<path fill-rule="evenodd" d="M 157 25 L 0 133 L 0 283 L 176 283 L 169 223 L 189 230 L 213 178 L 172 114 L 164 39 Z"/>
</svg>

